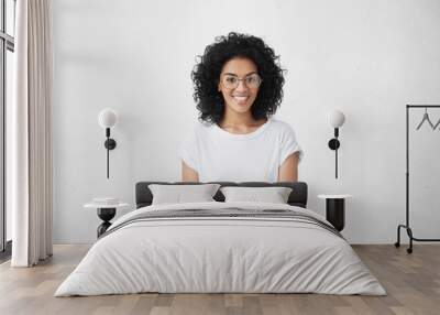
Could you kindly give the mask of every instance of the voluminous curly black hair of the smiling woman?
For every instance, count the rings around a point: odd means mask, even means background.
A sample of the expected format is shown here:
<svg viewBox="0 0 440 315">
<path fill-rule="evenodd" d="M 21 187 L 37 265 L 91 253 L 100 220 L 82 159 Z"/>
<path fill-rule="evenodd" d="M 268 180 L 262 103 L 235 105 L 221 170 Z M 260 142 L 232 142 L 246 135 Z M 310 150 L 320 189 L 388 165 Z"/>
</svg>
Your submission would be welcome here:
<svg viewBox="0 0 440 315">
<path fill-rule="evenodd" d="M 235 32 L 216 37 L 216 42 L 198 56 L 191 78 L 195 86 L 194 100 L 199 110 L 199 119 L 219 123 L 224 115 L 224 99 L 218 90 L 223 65 L 234 58 L 251 59 L 257 67 L 262 84 L 251 107 L 255 120 L 268 118 L 276 112 L 283 100 L 284 76 L 279 66 L 279 56 L 262 39 Z"/>
</svg>

